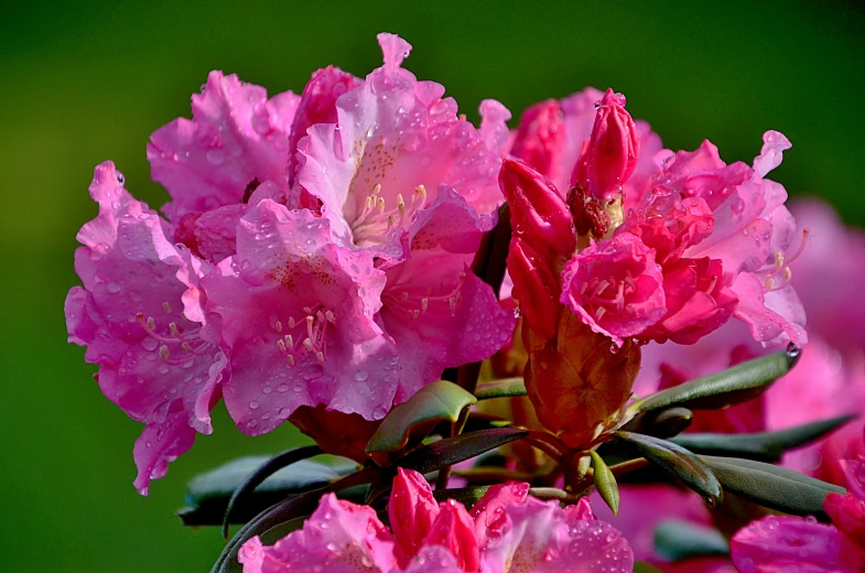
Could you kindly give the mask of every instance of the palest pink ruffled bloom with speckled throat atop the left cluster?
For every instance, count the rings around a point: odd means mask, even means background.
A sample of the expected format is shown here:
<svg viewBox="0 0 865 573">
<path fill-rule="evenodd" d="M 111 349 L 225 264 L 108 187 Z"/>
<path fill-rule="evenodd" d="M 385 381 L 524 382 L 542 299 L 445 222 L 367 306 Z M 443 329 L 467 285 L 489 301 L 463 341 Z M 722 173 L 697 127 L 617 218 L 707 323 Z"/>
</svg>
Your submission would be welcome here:
<svg viewBox="0 0 865 573">
<path fill-rule="evenodd" d="M 442 86 L 399 67 L 409 44 L 388 34 L 379 42 L 386 65 L 337 99 L 336 126 L 313 126 L 300 141 L 298 182 L 323 202 L 339 241 L 402 259 L 392 235 L 408 229 L 440 185 L 479 213 L 501 202 L 501 150 L 487 142 L 501 144 L 506 113 L 485 102 L 483 130 L 474 128 L 457 118 L 453 99 L 442 99 Z"/>
</svg>

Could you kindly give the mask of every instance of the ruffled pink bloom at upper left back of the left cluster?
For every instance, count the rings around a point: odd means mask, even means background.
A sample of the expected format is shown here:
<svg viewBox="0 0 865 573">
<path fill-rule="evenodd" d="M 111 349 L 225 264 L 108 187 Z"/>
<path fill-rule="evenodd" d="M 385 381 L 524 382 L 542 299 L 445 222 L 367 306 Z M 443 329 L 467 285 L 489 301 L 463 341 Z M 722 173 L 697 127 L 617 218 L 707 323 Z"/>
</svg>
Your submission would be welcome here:
<svg viewBox="0 0 865 573">
<path fill-rule="evenodd" d="M 253 180 L 285 186 L 298 101 L 291 93 L 268 100 L 264 88 L 212 72 L 192 96 L 193 119 L 175 119 L 148 144 L 151 175 L 172 198 L 164 206 L 171 219 L 241 203 Z"/>
</svg>

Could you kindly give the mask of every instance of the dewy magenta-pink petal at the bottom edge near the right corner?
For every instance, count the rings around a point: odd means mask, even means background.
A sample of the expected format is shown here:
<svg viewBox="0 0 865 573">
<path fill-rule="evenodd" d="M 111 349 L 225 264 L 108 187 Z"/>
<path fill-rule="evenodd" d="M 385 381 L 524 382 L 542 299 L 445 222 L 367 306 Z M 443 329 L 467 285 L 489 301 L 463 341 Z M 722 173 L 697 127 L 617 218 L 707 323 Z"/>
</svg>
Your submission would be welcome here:
<svg viewBox="0 0 865 573">
<path fill-rule="evenodd" d="M 729 542 L 740 573 L 843 572 L 842 534 L 814 519 L 768 516 L 740 529 Z"/>
</svg>

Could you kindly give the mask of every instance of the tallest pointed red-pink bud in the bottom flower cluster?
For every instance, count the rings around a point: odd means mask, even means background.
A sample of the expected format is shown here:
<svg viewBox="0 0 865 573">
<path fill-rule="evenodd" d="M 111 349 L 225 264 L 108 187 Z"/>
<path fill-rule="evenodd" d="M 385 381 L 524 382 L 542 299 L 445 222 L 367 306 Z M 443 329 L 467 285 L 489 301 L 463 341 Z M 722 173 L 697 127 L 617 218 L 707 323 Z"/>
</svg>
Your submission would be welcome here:
<svg viewBox="0 0 865 573">
<path fill-rule="evenodd" d="M 406 562 L 418 554 L 437 515 L 439 504 L 426 479 L 412 469 L 397 468 L 388 517 Z"/>
</svg>

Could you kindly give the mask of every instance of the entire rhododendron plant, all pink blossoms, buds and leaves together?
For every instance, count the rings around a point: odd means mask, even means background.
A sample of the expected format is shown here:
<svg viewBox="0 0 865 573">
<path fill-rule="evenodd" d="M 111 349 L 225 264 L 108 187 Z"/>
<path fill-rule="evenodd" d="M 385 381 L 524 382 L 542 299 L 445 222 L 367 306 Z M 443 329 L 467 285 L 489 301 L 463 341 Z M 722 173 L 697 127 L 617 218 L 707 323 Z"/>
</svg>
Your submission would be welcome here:
<svg viewBox="0 0 865 573">
<path fill-rule="evenodd" d="M 865 242 L 797 226 L 787 138 L 667 150 L 594 88 L 475 127 L 378 41 L 300 95 L 210 73 L 147 145 L 161 212 L 96 167 L 65 313 L 139 493 L 224 401 L 315 444 L 190 483 L 185 525 L 245 523 L 216 572 L 861 571 L 862 426 L 812 442 L 863 410 Z"/>
</svg>

